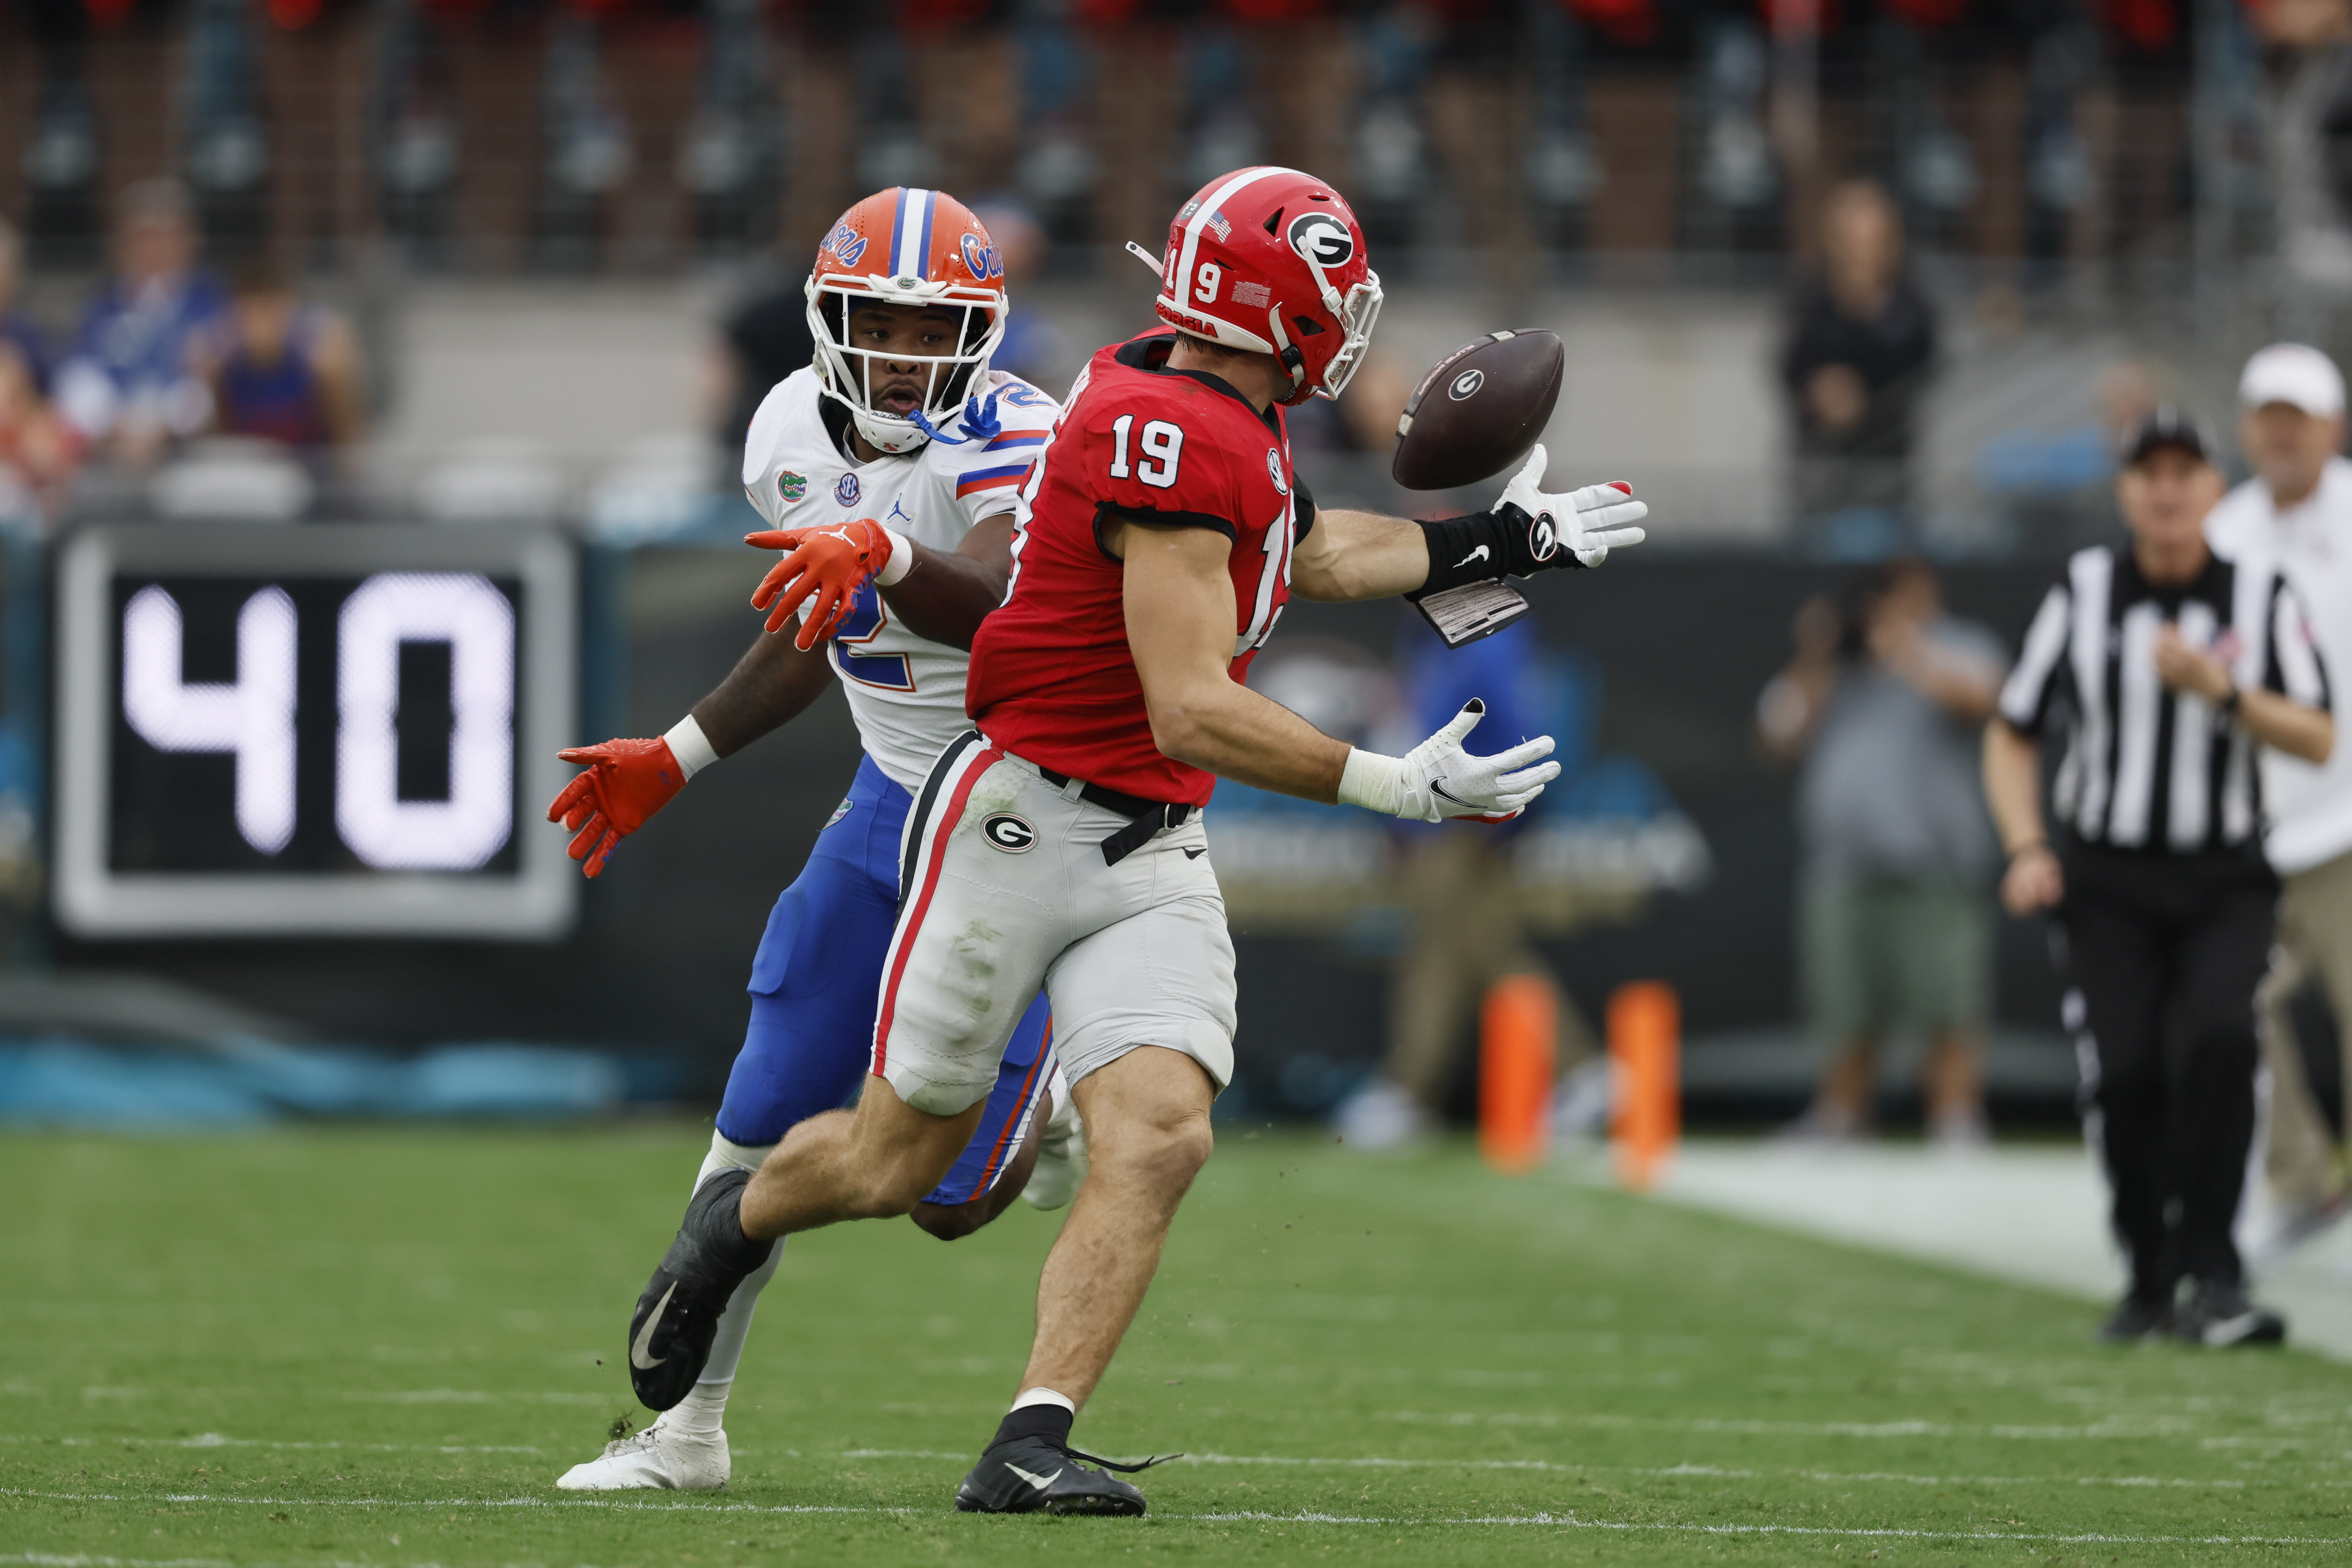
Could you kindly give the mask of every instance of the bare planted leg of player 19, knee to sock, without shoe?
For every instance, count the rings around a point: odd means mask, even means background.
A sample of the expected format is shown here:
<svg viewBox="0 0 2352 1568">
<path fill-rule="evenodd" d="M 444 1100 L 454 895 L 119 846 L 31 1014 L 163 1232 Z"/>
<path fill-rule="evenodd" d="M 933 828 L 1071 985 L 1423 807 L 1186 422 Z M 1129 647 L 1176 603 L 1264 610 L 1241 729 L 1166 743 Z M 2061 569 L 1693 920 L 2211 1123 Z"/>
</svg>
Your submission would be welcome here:
<svg viewBox="0 0 2352 1568">
<path fill-rule="evenodd" d="M 1143 1305 L 1176 1206 L 1209 1161 L 1216 1086 L 1190 1056 L 1145 1046 L 1077 1081 L 1094 1159 L 1037 1279 L 1021 1389 L 1082 1408 Z"/>
</svg>

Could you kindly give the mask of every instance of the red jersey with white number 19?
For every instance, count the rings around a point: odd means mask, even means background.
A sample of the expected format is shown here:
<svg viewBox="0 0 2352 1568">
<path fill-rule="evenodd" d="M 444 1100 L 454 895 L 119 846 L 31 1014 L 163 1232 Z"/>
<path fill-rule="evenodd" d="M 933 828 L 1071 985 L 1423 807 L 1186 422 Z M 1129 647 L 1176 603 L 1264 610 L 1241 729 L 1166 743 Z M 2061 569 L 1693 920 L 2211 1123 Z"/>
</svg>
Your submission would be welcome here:
<svg viewBox="0 0 2352 1568">
<path fill-rule="evenodd" d="M 1232 541 L 1232 679 L 1291 597 L 1291 545 L 1315 527 L 1291 480 L 1282 409 L 1258 409 L 1202 371 L 1167 369 L 1176 334 L 1094 355 L 1014 505 L 1014 578 L 971 639 L 964 705 L 981 731 L 1037 766 L 1108 790 L 1207 806 L 1216 776 L 1152 745 L 1127 646 L 1112 520 L 1211 529 Z M 1301 522 L 1301 512 L 1305 520 Z"/>
</svg>

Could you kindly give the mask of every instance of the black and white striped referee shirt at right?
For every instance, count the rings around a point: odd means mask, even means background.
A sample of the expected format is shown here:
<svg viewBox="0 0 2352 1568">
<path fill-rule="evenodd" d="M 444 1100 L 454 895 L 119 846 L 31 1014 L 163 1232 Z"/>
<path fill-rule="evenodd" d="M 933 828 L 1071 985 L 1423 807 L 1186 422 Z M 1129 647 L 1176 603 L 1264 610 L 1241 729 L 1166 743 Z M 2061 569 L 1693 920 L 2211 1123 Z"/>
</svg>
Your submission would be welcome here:
<svg viewBox="0 0 2352 1568">
<path fill-rule="evenodd" d="M 2326 708 L 2328 684 L 2293 590 L 2270 562 L 2211 559 L 2157 588 L 2129 550 L 2093 545 L 2042 599 L 2002 717 L 2039 736 L 2060 696 L 2067 750 L 2056 816 L 2091 844 L 2192 853 L 2256 842 L 2263 785 L 2253 743 L 2190 691 L 2157 679 L 2157 628 L 2220 656 L 2241 689 Z"/>
</svg>

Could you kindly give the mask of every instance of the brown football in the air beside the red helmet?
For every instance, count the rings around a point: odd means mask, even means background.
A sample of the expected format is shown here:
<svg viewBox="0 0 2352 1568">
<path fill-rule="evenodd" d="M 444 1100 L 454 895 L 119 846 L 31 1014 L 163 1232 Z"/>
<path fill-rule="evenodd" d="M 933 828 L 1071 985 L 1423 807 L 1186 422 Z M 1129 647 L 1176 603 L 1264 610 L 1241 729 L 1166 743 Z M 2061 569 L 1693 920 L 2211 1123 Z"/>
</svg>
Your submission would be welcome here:
<svg viewBox="0 0 2352 1568">
<path fill-rule="evenodd" d="M 1388 473 L 1404 489 L 1454 489 L 1503 473 L 1550 423 L 1564 364 L 1559 334 L 1541 327 L 1463 343 L 1406 400 Z"/>
</svg>

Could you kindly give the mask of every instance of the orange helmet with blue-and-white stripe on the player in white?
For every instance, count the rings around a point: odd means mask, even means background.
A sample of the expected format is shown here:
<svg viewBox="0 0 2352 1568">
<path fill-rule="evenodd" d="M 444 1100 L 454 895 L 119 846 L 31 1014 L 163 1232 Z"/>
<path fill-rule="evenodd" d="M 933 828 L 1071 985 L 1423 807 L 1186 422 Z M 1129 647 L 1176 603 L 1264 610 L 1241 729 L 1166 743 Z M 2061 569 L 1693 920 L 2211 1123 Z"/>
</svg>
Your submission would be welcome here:
<svg viewBox="0 0 2352 1568">
<path fill-rule="evenodd" d="M 816 376 L 882 451 L 915 451 L 931 440 L 929 425 L 953 418 L 964 395 L 988 381 L 988 355 L 1004 341 L 1004 259 L 971 209 L 943 190 L 894 186 L 844 212 L 816 247 L 807 294 Z M 960 310 L 955 353 L 851 348 L 849 313 L 861 299 Z M 915 418 L 873 404 L 866 376 L 873 357 L 929 364 Z"/>
</svg>

